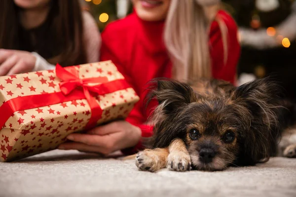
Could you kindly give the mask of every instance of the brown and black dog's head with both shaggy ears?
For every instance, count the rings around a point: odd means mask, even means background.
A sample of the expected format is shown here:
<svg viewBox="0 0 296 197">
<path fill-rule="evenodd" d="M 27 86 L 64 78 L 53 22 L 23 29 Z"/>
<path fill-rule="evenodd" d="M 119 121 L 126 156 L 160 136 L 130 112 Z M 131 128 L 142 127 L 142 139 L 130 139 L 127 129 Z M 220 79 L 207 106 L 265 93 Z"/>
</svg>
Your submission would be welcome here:
<svg viewBox="0 0 296 197">
<path fill-rule="evenodd" d="M 212 83 L 204 87 L 206 91 L 197 92 L 176 81 L 157 83 L 154 147 L 163 148 L 181 138 L 192 167 L 209 171 L 256 164 L 275 152 L 274 83 L 258 80 L 238 88 Z"/>
</svg>

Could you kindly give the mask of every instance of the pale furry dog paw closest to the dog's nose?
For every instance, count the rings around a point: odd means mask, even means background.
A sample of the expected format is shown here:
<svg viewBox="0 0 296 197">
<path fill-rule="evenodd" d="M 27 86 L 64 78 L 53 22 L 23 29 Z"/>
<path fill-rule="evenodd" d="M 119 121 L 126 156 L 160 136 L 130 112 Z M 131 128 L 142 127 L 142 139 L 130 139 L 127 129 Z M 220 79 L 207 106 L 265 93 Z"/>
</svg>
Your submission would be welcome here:
<svg viewBox="0 0 296 197">
<path fill-rule="evenodd" d="M 167 168 L 173 171 L 190 170 L 191 160 L 188 154 L 181 151 L 172 152 L 168 156 Z"/>
</svg>

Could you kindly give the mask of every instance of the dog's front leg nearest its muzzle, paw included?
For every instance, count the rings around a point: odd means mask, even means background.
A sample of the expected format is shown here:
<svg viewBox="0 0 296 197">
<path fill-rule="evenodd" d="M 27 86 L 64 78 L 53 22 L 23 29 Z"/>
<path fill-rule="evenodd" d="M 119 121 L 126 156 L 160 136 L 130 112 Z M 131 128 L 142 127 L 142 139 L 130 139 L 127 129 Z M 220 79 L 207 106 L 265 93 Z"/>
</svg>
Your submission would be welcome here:
<svg viewBox="0 0 296 197">
<path fill-rule="evenodd" d="M 174 171 L 190 170 L 191 160 L 183 140 L 177 138 L 169 146 L 167 168 Z"/>
</svg>

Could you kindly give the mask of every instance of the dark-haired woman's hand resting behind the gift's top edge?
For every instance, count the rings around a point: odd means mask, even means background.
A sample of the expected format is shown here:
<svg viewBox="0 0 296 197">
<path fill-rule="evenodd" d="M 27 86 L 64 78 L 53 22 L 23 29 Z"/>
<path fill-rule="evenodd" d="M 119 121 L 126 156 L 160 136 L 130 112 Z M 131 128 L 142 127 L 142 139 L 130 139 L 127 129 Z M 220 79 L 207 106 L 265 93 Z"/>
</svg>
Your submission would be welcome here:
<svg viewBox="0 0 296 197">
<path fill-rule="evenodd" d="M 31 72 L 36 57 L 27 51 L 0 49 L 0 76 Z"/>
</svg>

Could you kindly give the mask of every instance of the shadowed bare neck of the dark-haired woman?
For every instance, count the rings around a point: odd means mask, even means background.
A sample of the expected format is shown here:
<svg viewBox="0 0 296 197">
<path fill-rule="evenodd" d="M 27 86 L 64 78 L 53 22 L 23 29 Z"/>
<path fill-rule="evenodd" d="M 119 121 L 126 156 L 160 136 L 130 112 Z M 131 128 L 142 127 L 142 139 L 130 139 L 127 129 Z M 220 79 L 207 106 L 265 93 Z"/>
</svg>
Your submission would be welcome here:
<svg viewBox="0 0 296 197">
<path fill-rule="evenodd" d="M 20 12 L 22 26 L 29 30 L 40 26 L 46 20 L 50 6 L 38 7 L 34 9 L 23 9 Z"/>
</svg>

